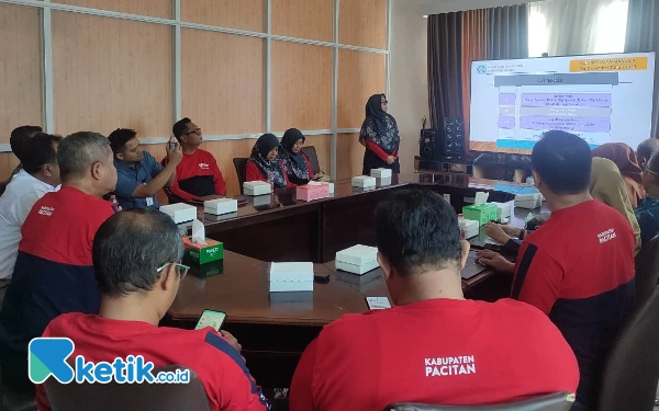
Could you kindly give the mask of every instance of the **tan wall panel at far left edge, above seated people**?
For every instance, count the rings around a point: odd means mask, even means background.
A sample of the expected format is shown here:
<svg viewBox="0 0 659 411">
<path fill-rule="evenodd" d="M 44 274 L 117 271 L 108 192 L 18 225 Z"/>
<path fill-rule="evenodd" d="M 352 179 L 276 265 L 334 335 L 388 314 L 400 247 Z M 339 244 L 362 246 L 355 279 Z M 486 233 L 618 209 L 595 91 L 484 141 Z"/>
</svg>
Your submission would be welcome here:
<svg viewBox="0 0 659 411">
<path fill-rule="evenodd" d="M 18 126 L 43 125 L 40 16 L 35 8 L 0 4 L 0 144 Z"/>
</svg>

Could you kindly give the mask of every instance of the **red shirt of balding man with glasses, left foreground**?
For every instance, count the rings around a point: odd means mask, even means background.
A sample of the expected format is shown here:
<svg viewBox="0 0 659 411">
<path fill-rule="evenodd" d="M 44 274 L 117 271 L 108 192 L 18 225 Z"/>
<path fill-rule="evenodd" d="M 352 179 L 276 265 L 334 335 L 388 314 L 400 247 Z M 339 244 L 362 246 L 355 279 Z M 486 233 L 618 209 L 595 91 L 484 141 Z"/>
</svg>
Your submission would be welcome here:
<svg viewBox="0 0 659 411">
<path fill-rule="evenodd" d="M 264 411 L 270 406 L 249 375 L 245 359 L 215 330 L 180 330 L 139 321 L 118 321 L 81 313 L 51 321 L 43 336 L 69 338 L 71 356 L 109 362 L 143 355 L 155 366 L 182 365 L 197 373 L 213 411 Z M 76 384 L 75 381 L 71 384 Z M 51 410 L 46 390 L 36 386 L 40 411 Z"/>
</svg>

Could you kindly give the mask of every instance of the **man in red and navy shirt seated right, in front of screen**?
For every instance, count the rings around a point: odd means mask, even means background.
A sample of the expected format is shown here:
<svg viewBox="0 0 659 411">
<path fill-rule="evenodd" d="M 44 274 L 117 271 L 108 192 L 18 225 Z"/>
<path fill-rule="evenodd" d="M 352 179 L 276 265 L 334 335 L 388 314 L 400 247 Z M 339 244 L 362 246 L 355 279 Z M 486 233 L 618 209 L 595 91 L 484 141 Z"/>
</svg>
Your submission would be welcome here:
<svg viewBox="0 0 659 411">
<path fill-rule="evenodd" d="M 606 354 L 634 306 L 636 238 L 621 213 L 591 197 L 583 139 L 548 132 L 530 160 L 551 216 L 524 239 L 516 264 L 493 252 L 479 258 L 514 270 L 512 297 L 538 307 L 562 332 L 581 375 L 572 410 L 596 410 Z"/>
</svg>

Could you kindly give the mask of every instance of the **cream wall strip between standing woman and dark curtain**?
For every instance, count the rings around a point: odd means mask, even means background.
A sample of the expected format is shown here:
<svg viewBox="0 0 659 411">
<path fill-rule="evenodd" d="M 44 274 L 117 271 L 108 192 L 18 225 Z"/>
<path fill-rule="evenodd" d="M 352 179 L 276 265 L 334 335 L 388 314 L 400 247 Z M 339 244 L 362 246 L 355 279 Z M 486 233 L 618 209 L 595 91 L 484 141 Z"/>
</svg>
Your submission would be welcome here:
<svg viewBox="0 0 659 411">
<path fill-rule="evenodd" d="M 428 116 L 426 0 L 391 0 L 391 73 L 389 112 L 401 130 L 401 173 L 414 172 L 421 118 Z"/>
</svg>

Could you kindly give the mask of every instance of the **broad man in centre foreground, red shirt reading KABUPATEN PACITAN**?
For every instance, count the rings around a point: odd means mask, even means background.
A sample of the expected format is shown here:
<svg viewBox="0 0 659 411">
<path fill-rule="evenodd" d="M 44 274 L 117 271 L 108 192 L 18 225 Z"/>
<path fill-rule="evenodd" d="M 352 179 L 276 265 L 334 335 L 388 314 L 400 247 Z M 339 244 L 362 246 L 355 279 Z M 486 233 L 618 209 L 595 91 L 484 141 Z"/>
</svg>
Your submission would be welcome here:
<svg viewBox="0 0 659 411">
<path fill-rule="evenodd" d="M 439 194 L 393 194 L 376 209 L 376 235 L 395 307 L 326 326 L 302 354 L 291 411 L 491 404 L 574 392 L 574 354 L 540 310 L 511 299 L 465 299 L 460 270 L 469 243 Z"/>
</svg>

